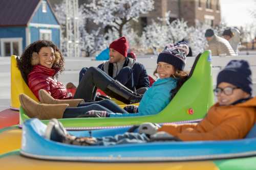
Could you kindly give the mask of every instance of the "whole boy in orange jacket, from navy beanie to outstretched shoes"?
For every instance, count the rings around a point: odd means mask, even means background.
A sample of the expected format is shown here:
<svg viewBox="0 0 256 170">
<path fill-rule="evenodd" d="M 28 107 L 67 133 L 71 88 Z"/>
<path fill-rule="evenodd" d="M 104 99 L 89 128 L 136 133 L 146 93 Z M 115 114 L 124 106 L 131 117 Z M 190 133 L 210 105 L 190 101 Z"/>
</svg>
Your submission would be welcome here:
<svg viewBox="0 0 256 170">
<path fill-rule="evenodd" d="M 163 125 L 145 123 L 139 133 L 124 133 L 102 138 L 75 137 L 67 133 L 56 119 L 46 130 L 46 138 L 76 145 L 113 145 L 145 143 L 154 139 L 171 138 L 182 141 L 242 139 L 250 131 L 256 117 L 256 98 L 251 97 L 252 81 L 249 64 L 232 60 L 220 71 L 214 90 L 218 103 L 204 119 L 195 124 Z"/>
</svg>

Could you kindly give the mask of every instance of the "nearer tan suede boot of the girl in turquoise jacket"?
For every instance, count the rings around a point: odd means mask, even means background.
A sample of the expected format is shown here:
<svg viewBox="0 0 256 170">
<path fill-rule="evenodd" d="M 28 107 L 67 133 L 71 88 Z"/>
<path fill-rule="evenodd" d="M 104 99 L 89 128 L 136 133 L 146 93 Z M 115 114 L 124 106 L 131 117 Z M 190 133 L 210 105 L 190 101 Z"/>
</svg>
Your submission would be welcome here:
<svg viewBox="0 0 256 170">
<path fill-rule="evenodd" d="M 41 120 L 51 118 L 62 118 L 63 113 L 69 104 L 39 104 L 26 94 L 19 94 L 19 102 L 30 117 L 36 117 Z"/>
</svg>

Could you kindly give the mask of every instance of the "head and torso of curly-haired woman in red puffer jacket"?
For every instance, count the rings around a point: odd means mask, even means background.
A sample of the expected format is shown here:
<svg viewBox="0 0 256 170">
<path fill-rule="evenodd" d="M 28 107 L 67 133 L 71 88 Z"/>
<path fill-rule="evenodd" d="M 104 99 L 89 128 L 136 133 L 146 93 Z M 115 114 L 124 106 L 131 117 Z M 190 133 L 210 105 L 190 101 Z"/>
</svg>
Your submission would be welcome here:
<svg viewBox="0 0 256 170">
<path fill-rule="evenodd" d="M 17 67 L 37 99 L 40 89 L 55 99 L 69 99 L 66 87 L 55 79 L 64 69 L 64 59 L 53 42 L 38 40 L 27 46 L 17 59 Z"/>
</svg>

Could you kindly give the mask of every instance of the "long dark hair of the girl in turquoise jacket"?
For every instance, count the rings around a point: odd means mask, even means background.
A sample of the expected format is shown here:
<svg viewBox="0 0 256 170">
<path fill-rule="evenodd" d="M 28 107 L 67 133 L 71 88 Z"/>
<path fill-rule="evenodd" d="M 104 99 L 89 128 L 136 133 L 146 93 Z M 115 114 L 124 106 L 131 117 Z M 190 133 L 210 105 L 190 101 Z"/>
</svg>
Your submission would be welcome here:
<svg viewBox="0 0 256 170">
<path fill-rule="evenodd" d="M 178 70 L 175 66 L 174 66 L 174 74 L 170 77 L 177 79 L 177 86 L 176 88 L 170 90 L 170 93 L 172 94 L 172 96 L 170 96 L 170 99 L 173 99 L 174 96 L 176 95 L 176 93 L 179 91 L 179 89 L 181 88 L 181 86 L 185 83 L 185 81 L 188 79 L 188 72 L 187 71 L 183 71 L 183 70 Z M 154 71 L 154 76 L 156 78 L 157 77 L 157 68 Z"/>
</svg>

